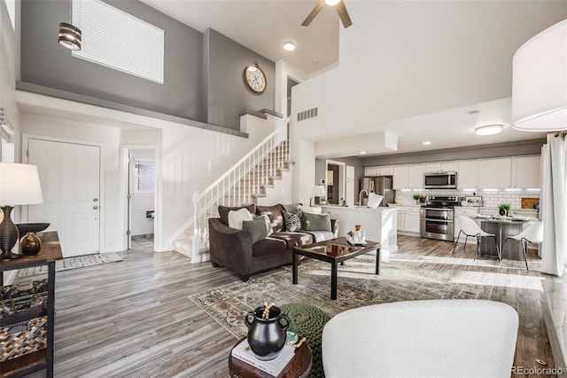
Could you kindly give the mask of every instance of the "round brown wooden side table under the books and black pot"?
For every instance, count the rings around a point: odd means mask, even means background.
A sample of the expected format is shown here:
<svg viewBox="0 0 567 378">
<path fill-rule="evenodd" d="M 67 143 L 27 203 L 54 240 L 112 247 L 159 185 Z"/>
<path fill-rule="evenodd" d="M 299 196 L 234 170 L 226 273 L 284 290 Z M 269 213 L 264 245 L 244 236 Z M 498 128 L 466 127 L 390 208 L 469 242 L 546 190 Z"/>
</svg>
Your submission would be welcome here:
<svg viewBox="0 0 567 378">
<path fill-rule="evenodd" d="M 234 346 L 242 342 L 245 339 L 238 340 Z M 278 375 L 277 378 L 292 378 L 301 377 L 307 378 L 309 373 L 311 373 L 311 348 L 307 343 L 302 343 L 301 346 L 295 350 L 295 356 L 291 358 L 291 361 L 283 369 L 282 373 Z M 272 375 L 262 372 L 252 365 L 246 364 L 244 361 L 238 358 L 232 358 L 232 350 L 229 354 L 229 373 L 231 377 L 234 378 L 268 378 Z"/>
</svg>

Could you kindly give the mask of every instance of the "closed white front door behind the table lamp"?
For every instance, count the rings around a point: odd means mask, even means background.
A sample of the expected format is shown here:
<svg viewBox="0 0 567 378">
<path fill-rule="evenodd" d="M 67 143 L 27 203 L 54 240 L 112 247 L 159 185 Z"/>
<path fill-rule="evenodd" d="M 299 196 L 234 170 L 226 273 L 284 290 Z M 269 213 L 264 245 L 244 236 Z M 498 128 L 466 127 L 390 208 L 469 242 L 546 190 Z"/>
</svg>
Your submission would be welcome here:
<svg viewBox="0 0 567 378">
<path fill-rule="evenodd" d="M 64 257 L 98 253 L 100 147 L 30 138 L 27 154 L 43 191 L 43 204 L 27 207 L 27 221 L 49 222 Z"/>
</svg>

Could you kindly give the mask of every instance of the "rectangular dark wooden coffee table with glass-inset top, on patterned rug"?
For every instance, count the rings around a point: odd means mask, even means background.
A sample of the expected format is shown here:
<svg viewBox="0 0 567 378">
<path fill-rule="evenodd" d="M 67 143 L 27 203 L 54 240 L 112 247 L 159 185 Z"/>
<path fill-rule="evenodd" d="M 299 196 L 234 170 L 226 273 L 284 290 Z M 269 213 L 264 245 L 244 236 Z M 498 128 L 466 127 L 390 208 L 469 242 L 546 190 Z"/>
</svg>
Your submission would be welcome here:
<svg viewBox="0 0 567 378">
<path fill-rule="evenodd" d="M 377 241 L 366 240 L 364 246 L 351 246 L 346 238 L 338 238 L 293 248 L 293 283 L 298 283 L 299 256 L 326 261 L 330 263 L 330 299 L 337 299 L 338 263 L 376 250 L 376 274 L 380 274 L 380 245 Z"/>
</svg>

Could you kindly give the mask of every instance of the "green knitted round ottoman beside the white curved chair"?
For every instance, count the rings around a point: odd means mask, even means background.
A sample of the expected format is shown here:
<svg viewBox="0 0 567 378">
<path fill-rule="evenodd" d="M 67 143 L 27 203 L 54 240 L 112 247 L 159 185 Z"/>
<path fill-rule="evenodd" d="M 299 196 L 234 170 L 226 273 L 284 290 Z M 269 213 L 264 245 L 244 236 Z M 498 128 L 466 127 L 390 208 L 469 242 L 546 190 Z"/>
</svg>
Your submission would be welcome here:
<svg viewBox="0 0 567 378">
<path fill-rule="evenodd" d="M 329 315 L 315 306 L 304 303 L 286 303 L 280 306 L 283 314 L 291 320 L 291 328 L 299 337 L 305 337 L 313 354 L 310 377 L 324 377 L 321 359 L 322 327 L 329 321 Z"/>
</svg>

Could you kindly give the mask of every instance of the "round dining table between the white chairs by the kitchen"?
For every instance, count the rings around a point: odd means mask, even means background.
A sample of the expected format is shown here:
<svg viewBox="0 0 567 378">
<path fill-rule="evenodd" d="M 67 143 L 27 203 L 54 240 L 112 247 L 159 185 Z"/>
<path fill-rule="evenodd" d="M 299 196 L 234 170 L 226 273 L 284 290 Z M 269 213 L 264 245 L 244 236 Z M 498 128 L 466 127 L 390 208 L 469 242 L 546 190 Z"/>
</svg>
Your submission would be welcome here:
<svg viewBox="0 0 567 378">
<path fill-rule="evenodd" d="M 485 232 L 493 233 L 496 235 L 496 245 L 501 250 L 502 259 L 520 260 L 524 261 L 522 255 L 522 246 L 517 240 L 508 240 L 506 248 L 504 248 L 504 241 L 507 236 L 515 236 L 522 232 L 528 225 L 537 222 L 536 218 L 529 220 L 516 220 L 512 217 L 490 217 L 490 218 L 474 218 L 475 222 L 480 224 L 480 228 Z M 480 239 L 480 255 L 492 256 L 498 258 L 498 252 L 494 247 L 492 238 Z"/>
</svg>

